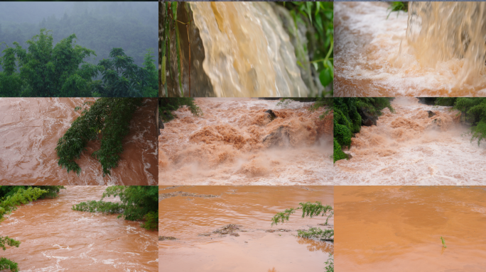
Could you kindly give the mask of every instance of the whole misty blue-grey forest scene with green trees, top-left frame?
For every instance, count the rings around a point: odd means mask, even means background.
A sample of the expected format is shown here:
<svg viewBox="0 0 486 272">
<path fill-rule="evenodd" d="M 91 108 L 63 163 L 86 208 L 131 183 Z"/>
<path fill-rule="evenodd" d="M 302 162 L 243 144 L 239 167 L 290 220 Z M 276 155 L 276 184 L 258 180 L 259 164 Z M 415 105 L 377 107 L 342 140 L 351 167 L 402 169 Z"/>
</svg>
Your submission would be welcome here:
<svg viewBox="0 0 486 272">
<path fill-rule="evenodd" d="M 156 3 L 0 4 L 0 97 L 155 97 Z"/>
</svg>

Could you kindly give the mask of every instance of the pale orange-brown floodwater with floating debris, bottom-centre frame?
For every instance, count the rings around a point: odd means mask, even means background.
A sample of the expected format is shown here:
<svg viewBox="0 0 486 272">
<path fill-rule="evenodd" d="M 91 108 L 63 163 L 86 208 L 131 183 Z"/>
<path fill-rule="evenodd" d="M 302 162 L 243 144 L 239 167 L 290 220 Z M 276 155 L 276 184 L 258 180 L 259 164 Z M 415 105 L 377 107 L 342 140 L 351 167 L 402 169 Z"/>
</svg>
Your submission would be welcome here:
<svg viewBox="0 0 486 272">
<path fill-rule="evenodd" d="M 301 218 L 271 227 L 271 217 L 298 203 L 321 201 L 333 205 L 333 186 L 159 186 L 159 193 L 183 191 L 216 198 L 175 196 L 160 200 L 159 235 L 178 238 L 158 242 L 159 271 L 316 271 L 325 267 L 333 244 L 294 237 L 296 229 L 321 227 L 325 217 Z M 159 195 L 160 199 L 160 195 Z M 228 224 L 248 232 L 239 237 L 200 237 Z M 329 225 L 334 225 L 333 218 Z M 265 229 L 292 229 L 265 232 Z M 281 236 L 279 235 L 281 234 Z M 274 270 L 272 270 L 274 269 Z"/>
</svg>

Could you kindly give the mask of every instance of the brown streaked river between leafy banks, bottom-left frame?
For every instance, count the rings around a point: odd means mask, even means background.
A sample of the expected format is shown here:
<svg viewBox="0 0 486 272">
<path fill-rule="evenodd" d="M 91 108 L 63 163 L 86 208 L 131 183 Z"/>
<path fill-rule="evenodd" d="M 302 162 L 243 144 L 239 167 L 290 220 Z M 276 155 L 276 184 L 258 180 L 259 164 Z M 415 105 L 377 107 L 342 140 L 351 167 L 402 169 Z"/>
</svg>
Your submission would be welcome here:
<svg viewBox="0 0 486 272">
<path fill-rule="evenodd" d="M 57 198 L 23 205 L 0 235 L 21 245 L 2 251 L 20 271 L 157 271 L 157 232 L 117 215 L 71 210 L 99 200 L 106 186 L 67 186 Z M 113 198 L 107 201 L 116 201 Z"/>
</svg>

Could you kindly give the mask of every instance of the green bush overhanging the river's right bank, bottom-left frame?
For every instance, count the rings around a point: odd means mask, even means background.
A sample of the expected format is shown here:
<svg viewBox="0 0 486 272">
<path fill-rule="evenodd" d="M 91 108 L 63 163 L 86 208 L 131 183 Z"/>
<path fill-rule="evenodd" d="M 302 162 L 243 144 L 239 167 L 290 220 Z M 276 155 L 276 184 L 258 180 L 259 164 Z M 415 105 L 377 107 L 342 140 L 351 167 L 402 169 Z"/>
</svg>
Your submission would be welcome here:
<svg viewBox="0 0 486 272">
<path fill-rule="evenodd" d="M 119 203 L 104 202 L 104 198 L 119 197 Z M 158 229 L 158 186 L 109 186 L 101 200 L 72 205 L 83 212 L 119 213 L 125 220 L 143 220 L 141 227 Z"/>
</svg>

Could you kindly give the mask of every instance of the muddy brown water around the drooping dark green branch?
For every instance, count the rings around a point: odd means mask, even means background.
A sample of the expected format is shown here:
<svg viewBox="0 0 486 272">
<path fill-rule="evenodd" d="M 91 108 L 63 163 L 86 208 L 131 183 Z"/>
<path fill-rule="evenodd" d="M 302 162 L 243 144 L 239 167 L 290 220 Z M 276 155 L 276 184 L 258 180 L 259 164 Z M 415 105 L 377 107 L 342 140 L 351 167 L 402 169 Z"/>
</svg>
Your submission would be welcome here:
<svg viewBox="0 0 486 272">
<path fill-rule="evenodd" d="M 124 138 L 124 152 L 111 176 L 91 156 L 90 142 L 77 163 L 80 176 L 58 166 L 55 147 L 80 112 L 76 106 L 94 98 L 0 98 L 0 183 L 8 185 L 147 185 L 157 182 L 155 98 L 144 99 Z"/>
</svg>

